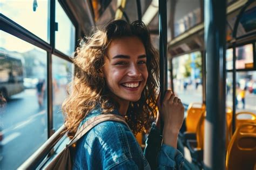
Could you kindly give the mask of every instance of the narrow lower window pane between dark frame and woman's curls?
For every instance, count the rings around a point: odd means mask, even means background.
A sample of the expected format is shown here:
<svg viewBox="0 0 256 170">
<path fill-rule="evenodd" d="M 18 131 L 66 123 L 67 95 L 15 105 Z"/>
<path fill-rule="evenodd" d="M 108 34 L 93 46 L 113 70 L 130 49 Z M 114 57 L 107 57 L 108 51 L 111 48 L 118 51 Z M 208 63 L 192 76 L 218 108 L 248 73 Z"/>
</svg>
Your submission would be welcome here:
<svg viewBox="0 0 256 170">
<path fill-rule="evenodd" d="M 59 58 L 52 57 L 52 96 L 53 96 L 53 128 L 57 130 L 64 123 L 61 105 L 67 96 L 66 87 L 72 80 L 73 64 Z M 71 90 L 71 89 L 70 89 Z"/>
</svg>

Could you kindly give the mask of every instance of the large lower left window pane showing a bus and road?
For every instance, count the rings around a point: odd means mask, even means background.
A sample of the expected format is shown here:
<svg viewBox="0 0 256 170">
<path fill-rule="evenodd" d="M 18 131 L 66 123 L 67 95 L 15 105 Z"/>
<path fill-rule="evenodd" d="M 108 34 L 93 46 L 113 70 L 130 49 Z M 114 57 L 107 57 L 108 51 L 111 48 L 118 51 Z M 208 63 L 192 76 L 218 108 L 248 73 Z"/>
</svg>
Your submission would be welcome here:
<svg viewBox="0 0 256 170">
<path fill-rule="evenodd" d="M 1 169 L 17 169 L 48 138 L 46 62 L 46 51 L 0 31 Z"/>
</svg>

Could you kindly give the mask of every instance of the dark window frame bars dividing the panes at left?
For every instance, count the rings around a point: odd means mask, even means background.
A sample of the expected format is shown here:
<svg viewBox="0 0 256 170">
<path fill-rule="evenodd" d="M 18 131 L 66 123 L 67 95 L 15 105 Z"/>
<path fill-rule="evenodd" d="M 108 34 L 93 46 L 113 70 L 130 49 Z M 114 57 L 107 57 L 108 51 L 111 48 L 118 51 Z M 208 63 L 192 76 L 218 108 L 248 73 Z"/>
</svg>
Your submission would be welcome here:
<svg viewBox="0 0 256 170">
<path fill-rule="evenodd" d="M 72 24 L 75 26 L 75 48 L 78 45 L 76 39 L 80 37 L 81 30 L 78 28 L 78 22 L 76 21 L 75 17 L 72 15 L 71 10 L 68 8 L 68 4 L 64 1 L 58 0 L 60 6 L 62 6 L 63 10 L 65 11 L 66 15 L 69 17 Z M 55 1 L 49 1 L 50 6 L 50 43 L 45 42 L 43 39 L 39 38 L 29 30 L 25 29 L 22 25 L 19 25 L 15 21 L 12 21 L 8 16 L 3 15 L 0 13 L 0 24 L 1 30 L 6 33 L 9 33 L 12 36 L 20 38 L 25 42 L 33 44 L 42 50 L 47 52 L 47 128 L 48 128 L 48 138 L 51 137 L 56 130 L 53 129 L 53 113 L 52 113 L 52 55 L 56 55 L 64 60 L 67 60 L 70 63 L 72 59 L 65 55 L 63 52 L 55 49 L 55 30 L 56 30 L 56 22 L 55 22 Z M 75 50 L 75 49 L 73 49 Z"/>
</svg>

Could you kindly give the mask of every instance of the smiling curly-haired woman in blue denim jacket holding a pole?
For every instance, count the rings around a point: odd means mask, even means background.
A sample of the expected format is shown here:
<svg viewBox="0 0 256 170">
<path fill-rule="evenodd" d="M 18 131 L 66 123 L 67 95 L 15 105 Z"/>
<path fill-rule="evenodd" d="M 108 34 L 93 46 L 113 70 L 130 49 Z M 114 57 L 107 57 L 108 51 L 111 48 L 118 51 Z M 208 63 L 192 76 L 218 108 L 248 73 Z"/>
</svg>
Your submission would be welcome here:
<svg viewBox="0 0 256 170">
<path fill-rule="evenodd" d="M 156 114 L 158 55 L 142 22 L 109 23 L 84 40 L 74 63 L 79 71 L 63 103 L 69 136 L 85 121 L 107 113 L 122 115 L 131 131 L 114 121 L 93 127 L 77 142 L 73 169 L 181 168 L 184 158 L 176 147 L 184 107 L 166 91 Z M 163 144 L 160 116 L 164 118 Z M 152 124 L 154 117 L 157 121 Z M 134 134 L 150 127 L 143 154 Z"/>
</svg>

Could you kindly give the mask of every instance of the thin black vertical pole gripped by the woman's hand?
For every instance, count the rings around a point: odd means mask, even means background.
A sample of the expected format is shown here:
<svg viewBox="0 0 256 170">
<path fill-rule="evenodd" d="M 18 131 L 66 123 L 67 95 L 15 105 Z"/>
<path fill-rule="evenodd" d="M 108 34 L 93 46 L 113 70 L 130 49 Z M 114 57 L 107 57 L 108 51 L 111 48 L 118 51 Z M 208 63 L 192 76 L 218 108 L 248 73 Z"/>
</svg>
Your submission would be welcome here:
<svg viewBox="0 0 256 170">
<path fill-rule="evenodd" d="M 166 0 L 159 0 L 159 57 L 160 57 L 160 93 L 162 102 L 167 89 L 167 12 Z M 164 120 L 161 117 L 161 135 L 163 135 Z"/>
</svg>

